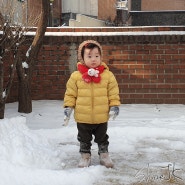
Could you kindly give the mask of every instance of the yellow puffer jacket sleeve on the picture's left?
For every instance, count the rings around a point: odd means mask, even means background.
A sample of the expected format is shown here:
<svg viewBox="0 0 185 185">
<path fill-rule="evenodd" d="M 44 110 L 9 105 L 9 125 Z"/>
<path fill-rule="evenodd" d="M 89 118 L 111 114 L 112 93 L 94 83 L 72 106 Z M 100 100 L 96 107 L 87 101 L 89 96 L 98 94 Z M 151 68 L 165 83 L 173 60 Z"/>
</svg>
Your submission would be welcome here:
<svg viewBox="0 0 185 185">
<path fill-rule="evenodd" d="M 66 92 L 64 96 L 64 107 L 75 107 L 77 97 L 77 85 L 75 73 L 72 73 L 66 84 Z"/>
</svg>

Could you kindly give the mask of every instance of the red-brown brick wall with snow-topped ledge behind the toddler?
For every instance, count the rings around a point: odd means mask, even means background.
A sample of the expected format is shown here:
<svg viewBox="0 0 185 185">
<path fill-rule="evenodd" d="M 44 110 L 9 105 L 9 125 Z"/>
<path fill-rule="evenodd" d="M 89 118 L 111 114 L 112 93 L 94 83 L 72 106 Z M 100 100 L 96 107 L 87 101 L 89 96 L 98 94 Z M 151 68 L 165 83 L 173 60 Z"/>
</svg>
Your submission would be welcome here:
<svg viewBox="0 0 185 185">
<path fill-rule="evenodd" d="M 55 36 L 47 36 L 51 33 Z M 48 29 L 32 80 L 32 97 L 62 100 L 76 67 L 78 45 L 95 39 L 117 78 L 122 103 L 184 104 L 184 33 L 184 27 Z M 15 79 L 9 101 L 17 100 L 17 85 Z"/>
</svg>

